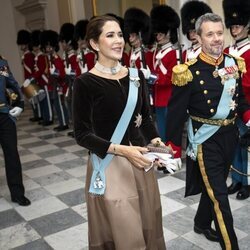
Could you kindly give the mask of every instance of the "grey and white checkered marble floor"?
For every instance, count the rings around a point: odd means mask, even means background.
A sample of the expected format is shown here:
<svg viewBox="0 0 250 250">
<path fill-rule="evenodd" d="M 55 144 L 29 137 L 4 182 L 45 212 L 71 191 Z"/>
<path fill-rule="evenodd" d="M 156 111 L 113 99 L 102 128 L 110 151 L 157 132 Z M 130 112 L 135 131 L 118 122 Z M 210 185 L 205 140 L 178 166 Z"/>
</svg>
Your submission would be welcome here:
<svg viewBox="0 0 250 250">
<path fill-rule="evenodd" d="M 18 148 L 26 196 L 31 206 L 10 201 L 0 150 L 0 249 L 86 250 L 87 216 L 84 198 L 87 151 L 67 131 L 29 122 L 27 109 L 18 120 Z M 54 125 L 56 126 L 56 125 Z M 185 167 L 172 176 L 157 173 L 168 250 L 217 250 L 218 243 L 193 232 L 199 196 L 184 198 Z M 229 180 L 230 182 L 230 180 Z M 230 196 L 241 250 L 250 249 L 250 199 Z"/>
</svg>

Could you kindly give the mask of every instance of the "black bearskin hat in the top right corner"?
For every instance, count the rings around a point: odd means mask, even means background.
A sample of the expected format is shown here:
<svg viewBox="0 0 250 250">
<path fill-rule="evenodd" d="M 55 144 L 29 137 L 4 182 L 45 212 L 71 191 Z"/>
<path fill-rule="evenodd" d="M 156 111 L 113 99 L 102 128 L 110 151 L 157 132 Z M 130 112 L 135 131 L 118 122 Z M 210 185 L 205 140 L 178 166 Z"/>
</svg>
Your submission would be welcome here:
<svg viewBox="0 0 250 250">
<path fill-rule="evenodd" d="M 250 0 L 224 0 L 222 3 L 225 24 L 246 26 L 250 22 Z"/>
</svg>

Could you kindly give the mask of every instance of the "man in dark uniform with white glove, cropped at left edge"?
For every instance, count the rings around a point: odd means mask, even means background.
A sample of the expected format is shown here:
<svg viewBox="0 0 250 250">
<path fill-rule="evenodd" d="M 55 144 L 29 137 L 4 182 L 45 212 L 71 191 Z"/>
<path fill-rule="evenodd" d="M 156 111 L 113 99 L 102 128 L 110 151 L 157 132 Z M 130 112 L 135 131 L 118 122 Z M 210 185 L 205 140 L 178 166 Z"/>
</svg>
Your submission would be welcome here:
<svg viewBox="0 0 250 250">
<path fill-rule="evenodd" d="M 0 145 L 4 154 L 7 184 L 11 200 L 20 206 L 28 206 L 30 201 L 24 196 L 15 123 L 23 108 L 20 87 L 10 72 L 7 61 L 0 56 Z"/>
</svg>

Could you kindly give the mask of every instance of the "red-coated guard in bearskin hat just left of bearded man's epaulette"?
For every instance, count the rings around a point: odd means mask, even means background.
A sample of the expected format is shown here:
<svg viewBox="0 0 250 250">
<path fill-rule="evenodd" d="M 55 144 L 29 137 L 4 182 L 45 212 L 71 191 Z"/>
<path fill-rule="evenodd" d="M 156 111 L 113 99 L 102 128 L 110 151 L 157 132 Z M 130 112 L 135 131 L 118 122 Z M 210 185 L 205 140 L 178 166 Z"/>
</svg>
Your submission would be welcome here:
<svg viewBox="0 0 250 250">
<path fill-rule="evenodd" d="M 178 41 L 177 29 L 180 26 L 180 18 L 175 10 L 167 5 L 154 7 L 150 17 L 157 44 L 153 53 L 153 72 L 157 75 L 153 85 L 156 123 L 161 139 L 166 141 L 165 121 L 172 93 L 172 68 L 180 58 L 179 50 L 174 48 Z"/>
</svg>

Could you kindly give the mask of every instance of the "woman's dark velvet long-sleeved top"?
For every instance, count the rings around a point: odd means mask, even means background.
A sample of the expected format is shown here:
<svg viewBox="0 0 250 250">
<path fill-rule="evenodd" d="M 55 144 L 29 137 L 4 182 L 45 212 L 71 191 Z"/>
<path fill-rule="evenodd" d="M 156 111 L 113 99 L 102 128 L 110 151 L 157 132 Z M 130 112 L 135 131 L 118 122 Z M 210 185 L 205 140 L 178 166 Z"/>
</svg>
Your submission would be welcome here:
<svg viewBox="0 0 250 250">
<path fill-rule="evenodd" d="M 135 111 L 121 144 L 144 146 L 145 138 L 158 136 L 154 126 L 143 74 Z M 110 80 L 89 72 L 79 76 L 73 89 L 73 123 L 79 145 L 104 158 L 110 139 L 125 108 L 129 76 Z M 145 136 L 143 138 L 142 136 Z"/>
</svg>

